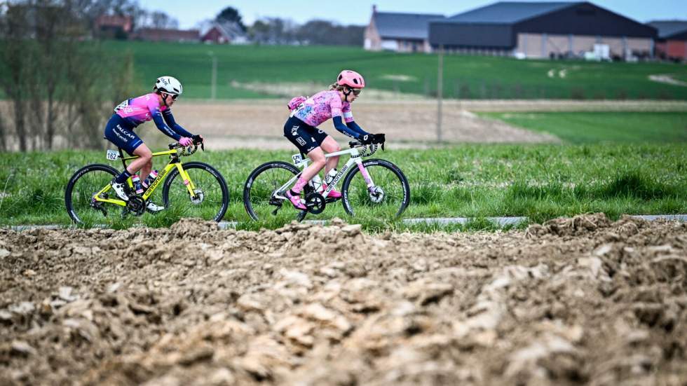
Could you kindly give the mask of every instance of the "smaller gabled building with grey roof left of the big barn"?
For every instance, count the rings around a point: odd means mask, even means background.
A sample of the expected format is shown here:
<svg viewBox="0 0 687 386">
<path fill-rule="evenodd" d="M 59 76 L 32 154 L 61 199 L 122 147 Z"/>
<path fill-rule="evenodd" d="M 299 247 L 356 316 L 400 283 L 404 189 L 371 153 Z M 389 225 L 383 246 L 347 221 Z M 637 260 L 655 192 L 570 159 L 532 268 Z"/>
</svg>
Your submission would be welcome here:
<svg viewBox="0 0 687 386">
<path fill-rule="evenodd" d="M 372 18 L 365 28 L 365 50 L 431 52 L 429 22 L 442 18 L 444 15 L 377 12 L 372 6 Z"/>
</svg>

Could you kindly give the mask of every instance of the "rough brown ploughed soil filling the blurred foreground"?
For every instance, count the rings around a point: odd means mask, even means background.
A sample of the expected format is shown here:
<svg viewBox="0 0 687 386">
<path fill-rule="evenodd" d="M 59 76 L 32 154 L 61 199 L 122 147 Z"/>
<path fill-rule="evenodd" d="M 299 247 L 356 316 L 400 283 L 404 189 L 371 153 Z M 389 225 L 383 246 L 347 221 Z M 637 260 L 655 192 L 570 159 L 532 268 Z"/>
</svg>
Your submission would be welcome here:
<svg viewBox="0 0 687 386">
<path fill-rule="evenodd" d="M 0 230 L 1 385 L 685 385 L 687 224 Z"/>
</svg>

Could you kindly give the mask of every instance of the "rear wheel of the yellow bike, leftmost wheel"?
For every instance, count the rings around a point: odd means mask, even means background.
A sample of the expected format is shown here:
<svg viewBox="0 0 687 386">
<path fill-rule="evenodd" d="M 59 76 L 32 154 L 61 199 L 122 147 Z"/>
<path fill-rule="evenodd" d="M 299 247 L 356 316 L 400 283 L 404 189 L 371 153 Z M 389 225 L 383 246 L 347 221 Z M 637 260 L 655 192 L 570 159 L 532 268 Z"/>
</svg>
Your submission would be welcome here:
<svg viewBox="0 0 687 386">
<path fill-rule="evenodd" d="M 109 165 L 86 165 L 78 170 L 67 183 L 64 189 L 64 204 L 67 205 L 67 213 L 74 223 L 85 226 L 94 226 L 107 219 L 109 211 L 111 215 L 121 214 L 121 207 L 108 205 L 104 202 L 93 200 L 95 193 L 107 186 L 119 172 Z M 102 193 L 103 198 L 116 198 L 114 191 Z"/>
</svg>

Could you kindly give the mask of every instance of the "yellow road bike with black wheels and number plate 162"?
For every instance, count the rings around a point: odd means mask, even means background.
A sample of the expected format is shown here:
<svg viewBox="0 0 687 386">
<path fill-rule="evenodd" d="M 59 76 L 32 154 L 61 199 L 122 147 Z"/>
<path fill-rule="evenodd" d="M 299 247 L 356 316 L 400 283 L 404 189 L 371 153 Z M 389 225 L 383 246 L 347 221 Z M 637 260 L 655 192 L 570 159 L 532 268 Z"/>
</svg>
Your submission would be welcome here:
<svg viewBox="0 0 687 386">
<path fill-rule="evenodd" d="M 163 184 L 165 209 L 174 207 L 185 217 L 222 220 L 229 205 L 229 189 L 222 174 L 206 163 L 182 163 L 180 160 L 195 153 L 198 144 L 205 150 L 202 142 L 189 147 L 174 143 L 169 145 L 168 151 L 153 153 L 153 157 L 169 156 L 170 162 L 140 195 L 135 194 L 129 178 L 128 201 L 120 200 L 110 186 L 111 180 L 120 173 L 114 167 L 100 163 L 82 167 L 69 179 L 64 192 L 69 217 L 75 223 L 93 226 L 107 221 L 111 212 L 122 217 L 141 216 L 155 189 Z M 124 167 L 127 161 L 138 158 L 124 156 L 122 149 L 108 150 L 106 156 L 111 161 L 121 159 Z"/>
</svg>

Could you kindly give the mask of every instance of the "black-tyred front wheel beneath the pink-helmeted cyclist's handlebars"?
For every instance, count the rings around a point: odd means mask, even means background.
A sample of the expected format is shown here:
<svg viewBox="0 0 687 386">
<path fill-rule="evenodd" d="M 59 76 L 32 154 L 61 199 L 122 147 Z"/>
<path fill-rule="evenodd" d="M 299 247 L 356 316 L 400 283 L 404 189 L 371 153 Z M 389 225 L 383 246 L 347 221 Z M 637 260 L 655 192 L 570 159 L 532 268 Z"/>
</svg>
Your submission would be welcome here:
<svg viewBox="0 0 687 386">
<path fill-rule="evenodd" d="M 346 174 L 344 183 L 341 185 L 341 205 L 344 205 L 346 213 L 355 216 L 355 206 L 367 205 L 367 212 L 369 213 L 377 211 L 379 212 L 377 215 L 383 216 L 384 214 L 390 214 L 391 211 L 395 212 L 394 216 L 400 216 L 410 203 L 410 185 L 405 174 L 403 174 L 399 167 L 387 160 L 372 158 L 363 160 L 362 165 L 368 170 L 375 186 L 385 188 L 384 185 L 386 185 L 385 195 L 383 196 L 383 199 L 386 199 L 386 201 L 379 203 L 372 201 L 371 196 L 367 193 L 367 183 L 360 173 L 360 168 L 353 167 Z M 390 174 L 385 172 L 385 170 L 390 172 Z M 353 182 L 353 177 L 359 174 L 361 176 L 360 179 L 356 179 L 356 182 Z M 352 183 L 355 184 L 355 188 L 351 186 Z M 395 186 L 395 184 L 398 184 L 398 186 Z M 367 200 L 365 200 L 365 195 L 368 196 Z M 380 205 L 382 203 L 388 204 L 387 207 L 382 208 Z"/>
</svg>

